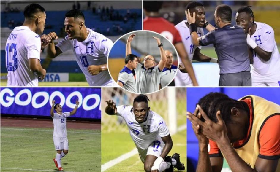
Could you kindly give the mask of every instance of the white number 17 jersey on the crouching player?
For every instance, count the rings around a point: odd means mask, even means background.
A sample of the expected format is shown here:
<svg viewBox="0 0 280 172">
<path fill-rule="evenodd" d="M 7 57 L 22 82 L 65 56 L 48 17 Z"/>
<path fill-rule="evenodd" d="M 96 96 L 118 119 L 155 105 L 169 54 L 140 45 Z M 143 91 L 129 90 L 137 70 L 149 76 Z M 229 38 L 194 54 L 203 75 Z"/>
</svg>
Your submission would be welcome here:
<svg viewBox="0 0 280 172">
<path fill-rule="evenodd" d="M 116 115 L 124 118 L 129 128 L 129 134 L 137 148 L 147 149 L 152 142 L 159 141 L 161 137 L 169 135 L 166 123 L 159 114 L 153 111 L 148 113 L 147 120 L 141 124 L 135 120 L 132 106 L 117 106 Z"/>
</svg>

